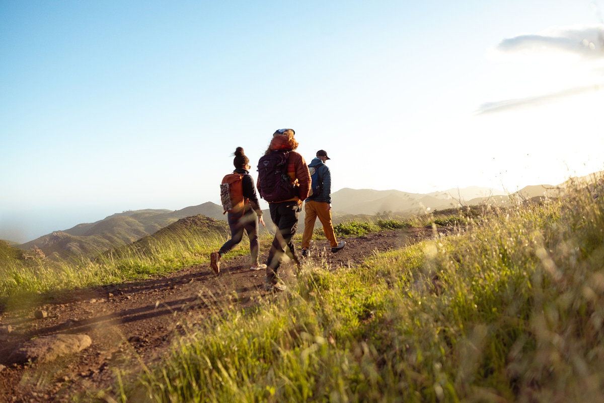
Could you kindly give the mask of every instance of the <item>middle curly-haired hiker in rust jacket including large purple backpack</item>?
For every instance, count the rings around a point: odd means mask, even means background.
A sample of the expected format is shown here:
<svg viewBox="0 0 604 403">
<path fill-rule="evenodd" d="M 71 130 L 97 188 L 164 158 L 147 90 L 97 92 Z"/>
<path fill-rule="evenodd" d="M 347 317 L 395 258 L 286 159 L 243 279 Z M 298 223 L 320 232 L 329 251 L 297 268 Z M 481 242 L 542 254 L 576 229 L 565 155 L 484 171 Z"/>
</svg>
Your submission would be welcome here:
<svg viewBox="0 0 604 403">
<path fill-rule="evenodd" d="M 269 203 L 271 219 L 277 227 L 266 261 L 266 291 L 287 289 L 277 276 L 286 251 L 300 268 L 292 238 L 298 228 L 300 206 L 308 196 L 310 173 L 304 157 L 294 151 L 298 148 L 294 135 L 293 129 L 274 132 L 265 155 L 258 163 L 258 191 L 260 197 Z"/>
</svg>

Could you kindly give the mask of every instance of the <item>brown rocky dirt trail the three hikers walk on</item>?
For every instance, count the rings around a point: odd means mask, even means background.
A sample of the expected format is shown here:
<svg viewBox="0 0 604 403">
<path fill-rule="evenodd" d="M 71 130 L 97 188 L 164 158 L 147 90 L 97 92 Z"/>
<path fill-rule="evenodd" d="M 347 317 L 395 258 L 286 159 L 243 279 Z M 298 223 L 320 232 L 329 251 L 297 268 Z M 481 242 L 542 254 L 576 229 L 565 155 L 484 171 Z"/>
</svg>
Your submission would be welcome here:
<svg viewBox="0 0 604 403">
<path fill-rule="evenodd" d="M 439 233 L 449 231 L 439 228 Z M 425 227 L 347 237 L 338 253 L 319 240 L 304 265 L 357 267 L 374 251 L 433 236 L 434 230 Z M 137 370 L 161 359 L 184 324 L 204 320 L 217 307 L 245 308 L 266 297 L 264 271 L 250 270 L 247 260 L 223 259 L 219 275 L 208 265 L 194 266 L 161 278 L 19 304 L 5 301 L 0 305 L 0 402 L 86 400 L 86 392 L 111 390 L 116 369 Z M 294 272 L 290 262 L 281 266 L 280 276 L 291 284 Z"/>
</svg>

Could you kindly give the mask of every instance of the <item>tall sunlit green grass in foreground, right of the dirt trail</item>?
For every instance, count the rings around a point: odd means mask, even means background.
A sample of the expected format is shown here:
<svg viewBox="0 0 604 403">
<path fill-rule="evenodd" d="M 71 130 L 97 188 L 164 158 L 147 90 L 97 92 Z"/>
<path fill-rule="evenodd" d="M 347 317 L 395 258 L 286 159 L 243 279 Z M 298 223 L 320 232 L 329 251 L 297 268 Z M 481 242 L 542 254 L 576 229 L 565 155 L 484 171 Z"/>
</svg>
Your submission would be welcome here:
<svg viewBox="0 0 604 403">
<path fill-rule="evenodd" d="M 519 204 L 465 233 L 310 268 L 191 324 L 124 400 L 602 401 L 604 201 Z"/>
</svg>

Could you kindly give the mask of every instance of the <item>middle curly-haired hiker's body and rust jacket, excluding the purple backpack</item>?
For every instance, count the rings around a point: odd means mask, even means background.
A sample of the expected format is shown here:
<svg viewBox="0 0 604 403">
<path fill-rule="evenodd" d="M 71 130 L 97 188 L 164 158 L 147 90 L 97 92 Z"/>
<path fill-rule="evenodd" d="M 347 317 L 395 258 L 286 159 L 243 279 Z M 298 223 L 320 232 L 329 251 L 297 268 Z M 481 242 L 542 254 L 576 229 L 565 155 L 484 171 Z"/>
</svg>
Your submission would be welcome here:
<svg viewBox="0 0 604 403">
<path fill-rule="evenodd" d="M 288 151 L 287 174 L 289 180 L 295 185 L 295 195 L 282 201 L 269 202 L 272 222 L 277 227 L 275 237 L 272 240 L 271 249 L 266 260 L 266 291 L 284 291 L 287 286 L 277 276 L 277 270 L 283 260 L 283 255 L 288 253 L 294 262 L 300 267 L 300 259 L 294 247 L 293 238 L 298 229 L 298 218 L 301 205 L 308 197 L 310 190 L 310 173 L 306 166 L 304 157 L 294 150 L 298 148 L 298 141 L 294 138 L 293 129 L 280 129 L 272 135 L 271 143 L 266 149 L 265 155 L 273 152 Z M 258 176 L 256 187 L 262 195 L 263 183 Z"/>
</svg>

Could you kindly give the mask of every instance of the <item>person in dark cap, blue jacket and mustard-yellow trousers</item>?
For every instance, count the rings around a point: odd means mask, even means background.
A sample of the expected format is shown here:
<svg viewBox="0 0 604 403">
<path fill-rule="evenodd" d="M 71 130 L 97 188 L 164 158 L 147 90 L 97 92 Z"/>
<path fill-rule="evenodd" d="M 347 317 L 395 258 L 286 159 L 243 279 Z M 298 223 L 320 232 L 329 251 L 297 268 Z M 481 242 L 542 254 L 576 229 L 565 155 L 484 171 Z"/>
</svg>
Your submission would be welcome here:
<svg viewBox="0 0 604 403">
<path fill-rule="evenodd" d="M 321 224 L 323 224 L 323 232 L 325 237 L 329 240 L 332 247 L 332 252 L 344 248 L 346 242 L 336 240 L 336 234 L 333 231 L 332 224 L 332 174 L 329 167 L 326 165 L 327 160 L 331 160 L 327 156 L 325 150 L 318 150 L 316 157 L 310 161 L 309 170 L 312 178 L 312 185 L 310 195 L 306 198 L 304 203 L 304 235 L 302 237 L 302 256 L 306 257 L 309 255 L 310 249 L 310 238 L 312 238 L 312 231 L 315 229 L 316 218 L 319 218 Z"/>
</svg>

